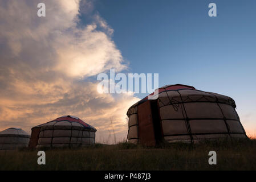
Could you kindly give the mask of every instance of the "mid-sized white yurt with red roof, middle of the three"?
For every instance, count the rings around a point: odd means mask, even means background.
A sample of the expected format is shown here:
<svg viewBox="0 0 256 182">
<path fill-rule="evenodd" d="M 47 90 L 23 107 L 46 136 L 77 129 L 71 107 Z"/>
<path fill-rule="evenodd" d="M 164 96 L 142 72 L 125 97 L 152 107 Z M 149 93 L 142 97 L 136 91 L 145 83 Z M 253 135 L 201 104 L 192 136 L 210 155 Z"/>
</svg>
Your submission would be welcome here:
<svg viewBox="0 0 256 182">
<path fill-rule="evenodd" d="M 95 132 L 91 125 L 78 117 L 64 115 L 52 121 L 32 127 L 29 147 L 78 147 L 95 144 Z"/>
</svg>

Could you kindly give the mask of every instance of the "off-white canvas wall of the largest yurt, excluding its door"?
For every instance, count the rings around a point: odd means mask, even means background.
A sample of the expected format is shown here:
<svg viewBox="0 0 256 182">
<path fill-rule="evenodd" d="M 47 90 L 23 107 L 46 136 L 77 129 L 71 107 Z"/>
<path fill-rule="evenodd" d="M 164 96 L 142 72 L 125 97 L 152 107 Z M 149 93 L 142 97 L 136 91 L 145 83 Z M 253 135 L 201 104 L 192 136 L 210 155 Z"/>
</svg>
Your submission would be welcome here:
<svg viewBox="0 0 256 182">
<path fill-rule="evenodd" d="M 136 138 L 139 137 L 138 104 L 139 102 L 127 111 L 128 141 L 131 143 L 137 143 Z M 159 94 L 158 104 L 166 142 L 191 142 L 190 135 L 195 141 L 230 137 L 246 138 L 235 111 L 235 102 L 230 97 L 193 89 L 170 90 Z"/>
</svg>

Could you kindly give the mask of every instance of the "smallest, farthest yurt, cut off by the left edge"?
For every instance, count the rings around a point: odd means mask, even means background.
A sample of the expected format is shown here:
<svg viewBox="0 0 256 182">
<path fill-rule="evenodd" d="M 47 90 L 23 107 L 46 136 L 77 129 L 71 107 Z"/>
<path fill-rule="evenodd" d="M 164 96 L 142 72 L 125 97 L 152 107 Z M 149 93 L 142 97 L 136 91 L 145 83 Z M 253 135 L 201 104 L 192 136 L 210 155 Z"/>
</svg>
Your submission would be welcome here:
<svg viewBox="0 0 256 182">
<path fill-rule="evenodd" d="M 0 131 L 0 150 L 15 150 L 27 147 L 30 135 L 17 127 Z"/>
</svg>

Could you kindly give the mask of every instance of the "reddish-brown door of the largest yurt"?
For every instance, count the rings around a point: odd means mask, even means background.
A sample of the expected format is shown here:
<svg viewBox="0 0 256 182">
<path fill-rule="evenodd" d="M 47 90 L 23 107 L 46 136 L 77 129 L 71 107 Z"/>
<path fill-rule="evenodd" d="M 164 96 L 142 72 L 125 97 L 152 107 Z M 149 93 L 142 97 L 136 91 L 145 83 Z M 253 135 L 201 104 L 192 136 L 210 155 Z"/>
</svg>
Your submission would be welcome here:
<svg viewBox="0 0 256 182">
<path fill-rule="evenodd" d="M 138 106 L 139 142 L 146 146 L 155 146 L 156 138 L 153 126 L 151 101 L 148 100 Z"/>
</svg>

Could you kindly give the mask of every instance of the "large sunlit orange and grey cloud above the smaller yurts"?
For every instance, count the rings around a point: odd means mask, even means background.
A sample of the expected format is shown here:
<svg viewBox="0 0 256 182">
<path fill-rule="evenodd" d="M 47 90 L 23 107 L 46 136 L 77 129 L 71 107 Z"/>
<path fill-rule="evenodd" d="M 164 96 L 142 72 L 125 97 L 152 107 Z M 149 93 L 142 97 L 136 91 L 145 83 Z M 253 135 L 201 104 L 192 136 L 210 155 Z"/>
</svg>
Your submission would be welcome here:
<svg viewBox="0 0 256 182">
<path fill-rule="evenodd" d="M 46 17 L 37 4 L 46 4 Z M 132 94 L 97 93 L 87 81 L 115 68 L 127 68 L 111 39 L 113 30 L 99 14 L 80 23 L 80 5 L 92 13 L 91 2 L 78 0 L 0 0 L 0 129 L 32 126 L 60 115 L 76 115 L 95 126 L 98 142 L 127 134 L 126 111 L 138 98 Z M 90 5 L 84 7 L 85 5 Z"/>
</svg>

